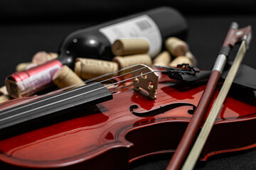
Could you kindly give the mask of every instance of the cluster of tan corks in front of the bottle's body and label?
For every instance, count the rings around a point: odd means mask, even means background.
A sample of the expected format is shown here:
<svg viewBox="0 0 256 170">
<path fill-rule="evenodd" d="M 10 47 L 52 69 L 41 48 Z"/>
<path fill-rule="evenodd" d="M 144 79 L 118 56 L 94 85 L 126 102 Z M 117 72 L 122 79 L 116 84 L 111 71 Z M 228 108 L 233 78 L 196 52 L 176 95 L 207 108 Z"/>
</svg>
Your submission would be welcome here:
<svg viewBox="0 0 256 170">
<path fill-rule="evenodd" d="M 152 61 L 151 57 L 147 55 L 149 42 L 146 39 L 119 39 L 112 44 L 112 52 L 116 56 L 112 62 L 78 58 L 75 63 L 75 73 L 82 79 L 93 79 L 111 72 L 114 72 L 114 74 L 111 74 L 110 77 L 125 74 L 130 72 L 131 69 L 124 68 L 135 64 L 169 67 L 176 67 L 177 64 L 182 63 L 196 65 L 196 58 L 188 50 L 188 44 L 183 40 L 171 37 L 166 40 L 165 45 L 166 51 L 161 52 Z M 121 69 L 124 70 L 118 72 Z"/>
</svg>

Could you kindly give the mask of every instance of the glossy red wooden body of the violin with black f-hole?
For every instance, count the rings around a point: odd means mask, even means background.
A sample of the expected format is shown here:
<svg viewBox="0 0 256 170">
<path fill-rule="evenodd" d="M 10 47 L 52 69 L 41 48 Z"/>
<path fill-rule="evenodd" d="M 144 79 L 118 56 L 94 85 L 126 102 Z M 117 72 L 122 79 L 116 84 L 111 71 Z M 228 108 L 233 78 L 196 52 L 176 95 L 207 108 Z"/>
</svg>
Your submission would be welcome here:
<svg viewBox="0 0 256 170">
<path fill-rule="evenodd" d="M 181 84 L 166 75 L 159 76 L 156 99 L 127 86 L 114 93 L 110 101 L 78 106 L 65 111 L 61 118 L 1 137 L 3 167 L 129 169 L 129 163 L 139 158 L 174 152 L 206 86 L 205 82 Z M 218 90 L 213 99 L 217 95 Z M 253 100 L 244 98 L 247 96 L 232 94 L 226 98 L 202 160 L 255 147 L 255 94 Z"/>
</svg>

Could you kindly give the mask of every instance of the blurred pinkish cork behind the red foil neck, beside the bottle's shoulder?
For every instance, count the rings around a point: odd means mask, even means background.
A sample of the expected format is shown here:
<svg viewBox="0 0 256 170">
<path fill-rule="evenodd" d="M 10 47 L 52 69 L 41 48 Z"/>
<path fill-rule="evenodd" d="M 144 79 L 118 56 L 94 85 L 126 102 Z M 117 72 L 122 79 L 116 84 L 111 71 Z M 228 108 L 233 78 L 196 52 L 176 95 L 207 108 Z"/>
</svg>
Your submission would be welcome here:
<svg viewBox="0 0 256 170">
<path fill-rule="evenodd" d="M 58 55 L 56 53 L 53 53 L 53 52 L 47 53 L 47 52 L 41 51 L 41 52 L 36 52 L 36 54 L 33 55 L 32 62 L 40 65 L 50 60 L 56 59 L 57 57 Z"/>
</svg>

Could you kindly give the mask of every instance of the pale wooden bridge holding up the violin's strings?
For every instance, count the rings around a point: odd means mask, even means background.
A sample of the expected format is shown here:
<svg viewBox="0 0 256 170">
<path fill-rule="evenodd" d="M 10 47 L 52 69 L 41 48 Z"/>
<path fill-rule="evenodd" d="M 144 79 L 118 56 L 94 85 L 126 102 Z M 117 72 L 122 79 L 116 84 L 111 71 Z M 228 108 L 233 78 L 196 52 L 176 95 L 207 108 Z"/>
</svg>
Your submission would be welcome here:
<svg viewBox="0 0 256 170">
<path fill-rule="evenodd" d="M 148 92 L 149 98 L 156 98 L 156 89 L 158 87 L 159 76 L 153 69 L 144 64 L 133 67 L 132 79 L 134 82 L 134 90 L 140 91 L 144 89 Z"/>
</svg>

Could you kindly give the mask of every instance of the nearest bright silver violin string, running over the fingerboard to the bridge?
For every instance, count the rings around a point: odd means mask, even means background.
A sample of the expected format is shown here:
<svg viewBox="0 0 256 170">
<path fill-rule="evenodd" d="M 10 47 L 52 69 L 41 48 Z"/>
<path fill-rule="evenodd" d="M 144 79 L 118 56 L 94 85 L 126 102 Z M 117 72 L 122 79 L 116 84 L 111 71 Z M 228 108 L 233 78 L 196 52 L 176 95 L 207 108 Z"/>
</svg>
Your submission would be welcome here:
<svg viewBox="0 0 256 170">
<path fill-rule="evenodd" d="M 113 84 L 109 84 L 109 85 L 107 85 L 107 86 L 112 86 L 112 85 L 115 85 L 115 84 L 119 84 L 119 83 L 122 83 L 122 82 L 124 82 L 124 81 L 128 81 L 128 80 L 131 80 L 131 79 L 135 79 L 135 78 L 137 78 L 137 77 L 144 76 L 144 75 L 146 75 L 146 74 L 150 74 L 150 73 L 152 73 L 152 72 L 161 72 L 161 70 L 153 70 L 153 71 L 150 71 L 150 72 L 146 72 L 146 73 L 144 73 L 144 74 L 139 74 L 138 76 L 131 77 L 131 78 L 129 78 L 129 79 L 124 79 L 124 80 L 122 80 L 122 81 L 117 81 L 117 82 L 115 82 L 115 83 L 113 83 Z M 102 87 L 100 87 L 100 88 L 98 88 L 98 89 L 93 89 L 93 90 L 91 90 L 91 91 L 86 91 L 85 93 L 82 93 L 82 94 L 78 94 L 78 95 L 75 95 L 75 96 L 70 96 L 69 98 L 64 98 L 64 99 L 62 99 L 62 100 L 60 100 L 60 101 L 55 101 L 55 102 L 53 102 L 53 103 L 48 103 L 47 105 L 43 105 L 43 106 L 40 106 L 40 107 L 36 107 L 36 108 L 30 109 L 30 110 L 28 110 L 28 111 L 23 111 L 23 112 L 21 112 L 21 113 L 15 114 L 15 115 L 9 115 L 9 116 L 6 117 L 6 118 L 1 118 L 0 122 L 3 122 L 3 121 L 5 121 L 5 120 L 9 120 L 10 118 L 15 118 L 15 117 L 17 117 L 17 116 L 19 116 L 19 115 L 24 115 L 24 114 L 29 113 L 29 112 L 31 112 L 31 111 L 36 111 L 36 110 L 38 110 L 38 109 L 41 109 L 41 108 L 45 108 L 45 107 L 54 105 L 54 104 L 56 104 L 56 103 L 60 103 L 60 102 L 63 102 L 63 101 L 70 100 L 70 99 L 72 99 L 72 98 L 77 98 L 77 97 L 79 97 L 79 96 L 82 96 L 82 95 L 91 93 L 91 92 L 93 92 L 93 91 L 97 91 L 97 90 L 100 90 L 100 89 L 103 89 L 103 88 L 107 88 L 107 86 L 102 86 Z M 26 106 L 27 106 L 27 105 L 26 105 Z M 26 107 L 26 106 L 25 106 L 25 107 Z M 20 109 L 20 108 L 18 108 L 18 109 Z M 11 110 L 11 111 L 15 111 L 15 110 Z M 4 113 L 0 113 L 0 115 L 4 115 L 4 114 L 6 114 L 6 113 L 9 113 L 9 111 L 6 111 L 6 112 L 4 112 Z"/>
</svg>

